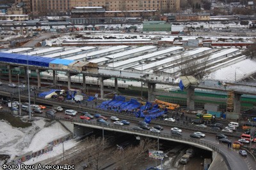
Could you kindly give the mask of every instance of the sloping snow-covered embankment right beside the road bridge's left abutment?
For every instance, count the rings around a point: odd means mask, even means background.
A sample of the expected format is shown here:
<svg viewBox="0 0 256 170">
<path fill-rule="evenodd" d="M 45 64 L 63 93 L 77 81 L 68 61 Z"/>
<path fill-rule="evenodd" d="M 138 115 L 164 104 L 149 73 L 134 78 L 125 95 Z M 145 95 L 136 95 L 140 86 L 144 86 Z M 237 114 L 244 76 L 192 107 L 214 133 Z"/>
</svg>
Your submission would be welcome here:
<svg viewBox="0 0 256 170">
<path fill-rule="evenodd" d="M 47 143 L 54 141 L 54 139 L 61 138 L 68 133 L 69 132 L 60 123 L 56 122 L 50 127 L 45 127 L 41 131 L 37 132 L 29 147 L 25 148 L 24 151 L 38 151 L 47 146 Z"/>
</svg>

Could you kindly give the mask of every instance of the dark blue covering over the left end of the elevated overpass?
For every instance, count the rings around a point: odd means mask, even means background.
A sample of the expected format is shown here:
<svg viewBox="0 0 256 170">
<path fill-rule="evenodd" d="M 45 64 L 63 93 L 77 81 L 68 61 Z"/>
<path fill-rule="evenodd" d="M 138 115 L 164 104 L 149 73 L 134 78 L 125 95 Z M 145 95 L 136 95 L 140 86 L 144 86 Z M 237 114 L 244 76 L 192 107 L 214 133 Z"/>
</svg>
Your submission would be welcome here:
<svg viewBox="0 0 256 170">
<path fill-rule="evenodd" d="M 29 64 L 31 66 L 49 67 L 49 63 L 55 59 L 33 55 L 0 52 L 0 61 L 17 64 Z"/>
</svg>

